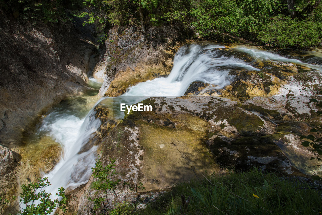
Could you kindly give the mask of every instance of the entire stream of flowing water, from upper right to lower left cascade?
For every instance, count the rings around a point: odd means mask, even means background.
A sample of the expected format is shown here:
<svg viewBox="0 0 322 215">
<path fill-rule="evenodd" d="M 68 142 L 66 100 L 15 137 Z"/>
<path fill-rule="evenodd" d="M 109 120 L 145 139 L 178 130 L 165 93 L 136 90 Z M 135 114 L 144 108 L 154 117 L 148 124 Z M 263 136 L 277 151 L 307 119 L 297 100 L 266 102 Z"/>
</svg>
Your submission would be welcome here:
<svg viewBox="0 0 322 215">
<path fill-rule="evenodd" d="M 246 60 L 251 58 L 251 60 Z M 317 57 L 314 55 L 313 57 Z M 319 58 L 321 60 L 321 58 Z M 130 86 L 122 96 L 113 98 L 114 103 L 134 104 L 151 96 L 177 97 L 184 95 L 189 85 L 201 81 L 212 85 L 213 89 L 222 89 L 234 80 L 234 71 L 260 71 L 258 62 L 296 63 L 322 71 L 320 65 L 295 59 L 294 54 L 281 56 L 251 46 L 232 46 L 226 48 L 218 44 L 191 44 L 181 47 L 175 55 L 174 66 L 167 77 L 160 77 L 144 83 Z M 309 62 L 309 63 L 308 63 Z M 95 83 L 93 83 L 95 84 Z M 97 83 L 96 83 L 97 84 Z M 52 186 L 47 189 L 55 196 L 59 187 L 74 189 L 86 183 L 95 166 L 97 146 L 86 147 L 88 140 L 95 135 L 100 121 L 95 119 L 96 105 L 106 104 L 111 98 L 87 98 L 90 102 L 78 102 L 54 108 L 41 124 L 37 126 L 35 138 L 49 136 L 62 147 L 62 155 L 52 171 L 45 174 Z M 85 114 L 85 112 L 88 112 Z M 121 119 L 124 112 L 114 114 L 115 120 Z M 33 144 L 30 141 L 29 144 Z M 88 150 L 84 151 L 84 148 Z"/>
</svg>

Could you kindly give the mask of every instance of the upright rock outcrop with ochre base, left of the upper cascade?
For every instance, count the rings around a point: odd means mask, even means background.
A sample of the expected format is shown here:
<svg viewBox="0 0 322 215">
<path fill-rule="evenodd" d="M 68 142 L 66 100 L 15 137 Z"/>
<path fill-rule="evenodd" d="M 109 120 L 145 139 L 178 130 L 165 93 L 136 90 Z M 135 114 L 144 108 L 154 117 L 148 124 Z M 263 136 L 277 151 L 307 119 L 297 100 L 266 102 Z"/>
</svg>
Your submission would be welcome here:
<svg viewBox="0 0 322 215">
<path fill-rule="evenodd" d="M 100 96 L 115 97 L 139 82 L 168 75 L 176 50 L 173 40 L 163 41 L 162 35 L 177 37 L 180 33 L 173 29 L 151 27 L 146 29 L 146 38 L 135 26 L 113 27 L 105 42 L 105 50 L 100 56 L 93 74 L 104 79 Z"/>
</svg>

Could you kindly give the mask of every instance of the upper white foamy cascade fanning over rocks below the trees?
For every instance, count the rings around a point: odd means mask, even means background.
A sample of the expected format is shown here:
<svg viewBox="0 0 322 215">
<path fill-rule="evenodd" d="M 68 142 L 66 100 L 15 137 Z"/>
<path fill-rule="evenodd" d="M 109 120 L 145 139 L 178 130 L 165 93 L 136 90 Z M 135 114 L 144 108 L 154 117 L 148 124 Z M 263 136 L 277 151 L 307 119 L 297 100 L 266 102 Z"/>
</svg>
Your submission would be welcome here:
<svg viewBox="0 0 322 215">
<path fill-rule="evenodd" d="M 123 95 L 181 96 L 194 81 L 210 83 L 215 89 L 222 89 L 233 80 L 234 75 L 230 75 L 229 72 L 234 69 L 259 70 L 235 57 L 223 55 L 218 57 L 216 50 L 224 48 L 222 45 L 198 44 L 181 47 L 175 55 L 173 68 L 168 77 L 138 83 L 129 87 Z M 225 67 L 227 69 L 222 69 Z"/>
</svg>

